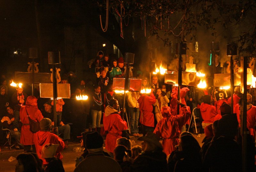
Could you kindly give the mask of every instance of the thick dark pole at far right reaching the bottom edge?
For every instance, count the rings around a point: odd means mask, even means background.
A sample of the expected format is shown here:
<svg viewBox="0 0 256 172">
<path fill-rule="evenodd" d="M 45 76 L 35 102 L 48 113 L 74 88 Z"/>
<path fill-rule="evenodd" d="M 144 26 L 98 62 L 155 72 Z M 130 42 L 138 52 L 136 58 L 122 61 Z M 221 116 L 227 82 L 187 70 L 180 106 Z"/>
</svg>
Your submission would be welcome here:
<svg viewBox="0 0 256 172">
<path fill-rule="evenodd" d="M 232 58 L 232 57 L 231 57 Z M 247 136 L 248 136 L 248 131 L 247 131 L 247 57 L 241 57 L 241 63 L 243 61 L 243 75 L 241 76 L 241 78 L 243 77 L 243 90 L 244 93 L 242 95 L 242 107 L 240 108 L 240 113 L 242 114 L 242 117 L 240 115 L 241 119 L 241 128 L 242 128 L 242 171 L 246 172 L 247 171 Z M 231 65 L 231 64 L 230 64 Z M 230 71 L 231 72 L 231 71 Z M 233 96 L 232 96 L 233 97 Z M 231 99 L 232 100 L 232 99 Z M 231 108 L 232 110 L 232 108 Z M 241 130 L 240 128 L 240 130 Z"/>
</svg>

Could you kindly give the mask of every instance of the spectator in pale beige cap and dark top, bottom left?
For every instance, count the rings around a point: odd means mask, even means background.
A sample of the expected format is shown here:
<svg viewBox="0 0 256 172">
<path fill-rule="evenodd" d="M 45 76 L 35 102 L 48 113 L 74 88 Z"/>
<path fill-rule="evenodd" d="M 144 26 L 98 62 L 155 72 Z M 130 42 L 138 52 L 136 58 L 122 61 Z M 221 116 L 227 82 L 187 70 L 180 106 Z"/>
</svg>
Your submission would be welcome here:
<svg viewBox="0 0 256 172">
<path fill-rule="evenodd" d="M 44 158 L 48 163 L 44 171 L 45 172 L 64 172 L 64 168 L 62 165 L 62 161 L 56 157 L 54 157 L 59 145 L 57 144 L 46 144 L 42 149 L 41 158 Z"/>
</svg>

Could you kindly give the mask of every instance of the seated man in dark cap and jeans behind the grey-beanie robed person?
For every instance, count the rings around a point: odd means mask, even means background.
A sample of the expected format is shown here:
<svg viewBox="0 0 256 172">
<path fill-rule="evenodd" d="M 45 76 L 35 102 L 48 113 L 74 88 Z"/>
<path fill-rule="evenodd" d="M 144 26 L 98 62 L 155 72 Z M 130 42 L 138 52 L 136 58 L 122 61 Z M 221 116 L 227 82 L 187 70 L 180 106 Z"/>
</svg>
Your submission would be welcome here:
<svg viewBox="0 0 256 172">
<path fill-rule="evenodd" d="M 53 110 L 52 105 L 48 102 L 44 103 L 44 111 L 42 111 L 42 115 L 44 118 L 49 118 L 52 123 L 52 127 L 54 127 L 54 118 L 53 118 Z M 68 124 L 64 124 L 62 121 L 61 125 L 58 126 L 59 133 L 63 132 L 63 140 L 65 142 L 65 146 L 68 146 L 68 140 L 70 139 L 70 126 Z"/>
</svg>

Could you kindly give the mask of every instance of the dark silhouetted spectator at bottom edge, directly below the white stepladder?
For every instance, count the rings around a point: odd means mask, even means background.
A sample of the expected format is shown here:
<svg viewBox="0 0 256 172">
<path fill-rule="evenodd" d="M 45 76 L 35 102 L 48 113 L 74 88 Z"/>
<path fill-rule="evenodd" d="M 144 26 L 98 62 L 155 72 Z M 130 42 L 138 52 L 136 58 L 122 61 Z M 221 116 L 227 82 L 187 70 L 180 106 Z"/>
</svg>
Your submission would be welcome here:
<svg viewBox="0 0 256 172">
<path fill-rule="evenodd" d="M 193 136 L 182 136 L 178 150 L 172 152 L 168 159 L 169 171 L 202 171 L 200 150 L 201 147 Z"/>
</svg>

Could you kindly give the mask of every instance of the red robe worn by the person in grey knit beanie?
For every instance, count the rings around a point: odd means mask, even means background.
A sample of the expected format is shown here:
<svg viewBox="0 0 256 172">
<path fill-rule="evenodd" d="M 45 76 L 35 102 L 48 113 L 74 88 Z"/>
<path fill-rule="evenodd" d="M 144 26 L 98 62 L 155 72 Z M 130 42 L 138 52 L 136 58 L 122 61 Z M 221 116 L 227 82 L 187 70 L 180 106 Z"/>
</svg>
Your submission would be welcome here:
<svg viewBox="0 0 256 172">
<path fill-rule="evenodd" d="M 60 152 L 65 148 L 65 143 L 57 135 L 50 133 L 49 131 L 38 131 L 35 133 L 34 142 L 36 146 L 36 153 L 38 157 L 43 160 L 43 165 L 48 164 L 44 158 L 41 158 L 42 149 L 46 144 L 59 144 L 55 157 L 59 158 L 60 160 L 63 158 Z"/>
</svg>

